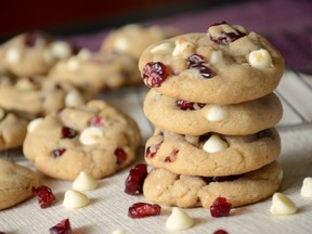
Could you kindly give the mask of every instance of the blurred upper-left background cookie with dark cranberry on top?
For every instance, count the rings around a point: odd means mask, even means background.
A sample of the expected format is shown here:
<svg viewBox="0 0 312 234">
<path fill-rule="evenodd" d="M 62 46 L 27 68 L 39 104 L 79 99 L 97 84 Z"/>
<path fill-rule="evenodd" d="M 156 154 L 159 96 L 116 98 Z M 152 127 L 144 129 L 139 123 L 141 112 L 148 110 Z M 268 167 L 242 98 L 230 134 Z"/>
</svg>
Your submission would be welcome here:
<svg viewBox="0 0 312 234">
<path fill-rule="evenodd" d="M 57 61 L 73 54 L 69 43 L 41 31 L 17 35 L 2 47 L 4 64 L 15 76 L 46 75 Z"/>
</svg>

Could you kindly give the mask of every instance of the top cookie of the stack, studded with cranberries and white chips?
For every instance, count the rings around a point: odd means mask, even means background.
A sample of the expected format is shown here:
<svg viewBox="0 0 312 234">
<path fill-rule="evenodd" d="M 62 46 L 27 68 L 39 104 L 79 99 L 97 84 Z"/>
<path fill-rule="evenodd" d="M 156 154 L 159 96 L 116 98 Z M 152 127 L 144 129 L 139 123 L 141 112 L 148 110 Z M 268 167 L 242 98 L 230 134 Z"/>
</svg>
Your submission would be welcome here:
<svg viewBox="0 0 312 234">
<path fill-rule="evenodd" d="M 284 58 L 262 36 L 222 23 L 208 32 L 150 46 L 139 68 L 144 83 L 164 95 L 225 105 L 271 93 L 282 78 Z"/>
</svg>

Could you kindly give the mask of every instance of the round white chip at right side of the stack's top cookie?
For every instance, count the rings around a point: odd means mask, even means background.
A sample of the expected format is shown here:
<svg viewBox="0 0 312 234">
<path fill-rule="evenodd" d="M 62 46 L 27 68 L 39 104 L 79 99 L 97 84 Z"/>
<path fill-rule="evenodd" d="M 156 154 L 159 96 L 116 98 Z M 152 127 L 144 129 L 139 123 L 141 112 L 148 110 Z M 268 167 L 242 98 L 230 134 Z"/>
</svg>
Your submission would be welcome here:
<svg viewBox="0 0 312 234">
<path fill-rule="evenodd" d="M 248 62 L 255 68 L 268 68 L 272 65 L 272 57 L 269 51 L 264 49 L 251 51 L 248 55 Z"/>
</svg>

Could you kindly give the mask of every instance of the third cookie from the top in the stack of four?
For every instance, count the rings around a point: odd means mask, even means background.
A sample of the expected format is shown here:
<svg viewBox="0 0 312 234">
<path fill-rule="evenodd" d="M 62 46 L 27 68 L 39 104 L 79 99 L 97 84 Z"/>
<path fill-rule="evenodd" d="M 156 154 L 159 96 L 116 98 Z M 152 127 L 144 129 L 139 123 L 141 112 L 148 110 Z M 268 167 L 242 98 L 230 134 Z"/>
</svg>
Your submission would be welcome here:
<svg viewBox="0 0 312 234">
<path fill-rule="evenodd" d="M 276 129 L 250 135 L 191 136 L 155 131 L 145 144 L 146 164 L 173 173 L 224 177 L 256 170 L 281 153 Z"/>
</svg>

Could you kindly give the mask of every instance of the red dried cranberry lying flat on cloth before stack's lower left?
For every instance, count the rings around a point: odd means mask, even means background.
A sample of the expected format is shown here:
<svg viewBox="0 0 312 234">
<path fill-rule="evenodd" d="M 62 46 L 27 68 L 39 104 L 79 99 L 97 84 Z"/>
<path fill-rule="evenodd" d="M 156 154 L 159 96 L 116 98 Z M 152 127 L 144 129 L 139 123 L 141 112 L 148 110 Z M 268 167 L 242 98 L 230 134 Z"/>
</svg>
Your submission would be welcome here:
<svg viewBox="0 0 312 234">
<path fill-rule="evenodd" d="M 161 207 L 157 204 L 136 203 L 129 207 L 128 216 L 132 219 L 141 219 L 150 216 L 159 216 Z"/>
</svg>

